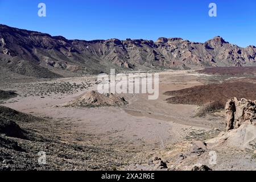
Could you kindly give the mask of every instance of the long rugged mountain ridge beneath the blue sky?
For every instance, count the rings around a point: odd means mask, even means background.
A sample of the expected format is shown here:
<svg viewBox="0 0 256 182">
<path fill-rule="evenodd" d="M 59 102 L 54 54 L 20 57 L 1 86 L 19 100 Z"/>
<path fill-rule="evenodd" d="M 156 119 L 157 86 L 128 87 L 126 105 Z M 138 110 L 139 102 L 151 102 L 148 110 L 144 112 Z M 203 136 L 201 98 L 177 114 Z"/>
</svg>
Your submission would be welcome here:
<svg viewBox="0 0 256 182">
<path fill-rule="evenodd" d="M 0 70 L 32 77 L 122 71 L 256 65 L 256 47 L 216 36 L 205 43 L 181 38 L 68 40 L 0 24 Z"/>
</svg>

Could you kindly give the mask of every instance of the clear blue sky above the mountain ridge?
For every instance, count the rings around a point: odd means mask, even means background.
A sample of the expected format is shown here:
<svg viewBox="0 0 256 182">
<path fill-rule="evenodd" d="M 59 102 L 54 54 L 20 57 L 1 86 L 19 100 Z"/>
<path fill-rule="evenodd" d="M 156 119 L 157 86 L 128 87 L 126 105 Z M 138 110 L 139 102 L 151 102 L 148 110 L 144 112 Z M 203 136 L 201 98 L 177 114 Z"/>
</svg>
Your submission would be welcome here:
<svg viewBox="0 0 256 182">
<path fill-rule="evenodd" d="M 47 16 L 38 16 L 44 2 Z M 217 17 L 208 16 L 210 2 Z M 220 35 L 256 46 L 255 0 L 0 0 L 0 23 L 68 39 L 180 37 L 195 42 Z"/>
</svg>

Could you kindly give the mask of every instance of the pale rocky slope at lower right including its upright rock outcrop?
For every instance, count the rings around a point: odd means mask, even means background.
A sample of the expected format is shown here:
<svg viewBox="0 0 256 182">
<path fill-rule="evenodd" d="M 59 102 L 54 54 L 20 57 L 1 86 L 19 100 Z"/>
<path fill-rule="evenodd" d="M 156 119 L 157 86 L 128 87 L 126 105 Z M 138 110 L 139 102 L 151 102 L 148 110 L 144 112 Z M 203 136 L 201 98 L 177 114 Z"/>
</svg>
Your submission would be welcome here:
<svg viewBox="0 0 256 182">
<path fill-rule="evenodd" d="M 247 168 L 255 171 L 255 114 L 255 101 L 230 99 L 225 106 L 227 131 L 209 139 L 197 138 L 177 143 L 172 150 L 160 153 L 161 158 L 155 156 L 148 164 L 129 166 L 127 169 L 212 171 Z"/>
</svg>

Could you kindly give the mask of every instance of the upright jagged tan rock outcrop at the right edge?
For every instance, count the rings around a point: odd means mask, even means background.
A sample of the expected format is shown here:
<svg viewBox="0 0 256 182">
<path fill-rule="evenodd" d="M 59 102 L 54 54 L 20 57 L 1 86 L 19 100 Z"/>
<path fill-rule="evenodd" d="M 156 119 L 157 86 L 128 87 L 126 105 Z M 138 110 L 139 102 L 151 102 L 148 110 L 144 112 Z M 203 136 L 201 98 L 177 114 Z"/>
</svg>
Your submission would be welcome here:
<svg viewBox="0 0 256 182">
<path fill-rule="evenodd" d="M 229 99 L 225 106 L 226 130 L 237 129 L 243 122 L 256 125 L 256 101 L 236 97 Z"/>
</svg>

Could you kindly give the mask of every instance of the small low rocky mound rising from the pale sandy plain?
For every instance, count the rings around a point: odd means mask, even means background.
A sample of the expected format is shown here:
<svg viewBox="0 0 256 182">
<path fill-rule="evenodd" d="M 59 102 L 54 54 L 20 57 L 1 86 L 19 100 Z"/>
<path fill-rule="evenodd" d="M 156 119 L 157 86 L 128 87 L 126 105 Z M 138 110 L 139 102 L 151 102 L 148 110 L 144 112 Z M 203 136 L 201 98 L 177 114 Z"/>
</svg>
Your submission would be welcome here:
<svg viewBox="0 0 256 182">
<path fill-rule="evenodd" d="M 123 97 L 115 96 L 112 93 L 100 94 L 96 91 L 87 92 L 84 96 L 75 101 L 68 102 L 64 107 L 101 107 L 101 106 L 122 106 L 128 102 Z"/>
</svg>

